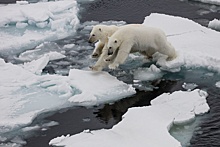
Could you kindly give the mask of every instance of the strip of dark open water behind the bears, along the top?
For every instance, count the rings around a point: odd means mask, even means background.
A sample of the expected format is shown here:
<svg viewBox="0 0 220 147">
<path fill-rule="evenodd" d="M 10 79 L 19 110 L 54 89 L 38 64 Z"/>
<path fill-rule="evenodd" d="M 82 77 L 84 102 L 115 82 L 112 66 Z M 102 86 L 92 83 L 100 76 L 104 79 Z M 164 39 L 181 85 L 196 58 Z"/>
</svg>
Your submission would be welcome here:
<svg viewBox="0 0 220 147">
<path fill-rule="evenodd" d="M 82 4 L 81 21 L 118 20 L 143 23 L 151 13 L 181 16 L 207 25 L 208 20 L 220 18 L 219 9 L 213 5 L 180 0 L 95 0 Z M 207 12 L 202 14 L 202 12 Z"/>
</svg>

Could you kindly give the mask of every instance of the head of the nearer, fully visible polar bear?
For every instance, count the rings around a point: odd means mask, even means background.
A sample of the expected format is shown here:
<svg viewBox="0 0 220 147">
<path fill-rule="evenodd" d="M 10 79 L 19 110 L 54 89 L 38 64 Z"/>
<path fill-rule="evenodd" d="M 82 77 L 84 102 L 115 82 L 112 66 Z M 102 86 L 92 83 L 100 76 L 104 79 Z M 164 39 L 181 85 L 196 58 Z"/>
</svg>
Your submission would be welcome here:
<svg viewBox="0 0 220 147">
<path fill-rule="evenodd" d="M 109 37 L 109 40 L 108 40 L 108 54 L 111 55 L 113 54 L 114 52 L 117 51 L 117 49 L 120 47 L 122 41 L 121 39 L 118 39 L 116 37 Z"/>
</svg>

